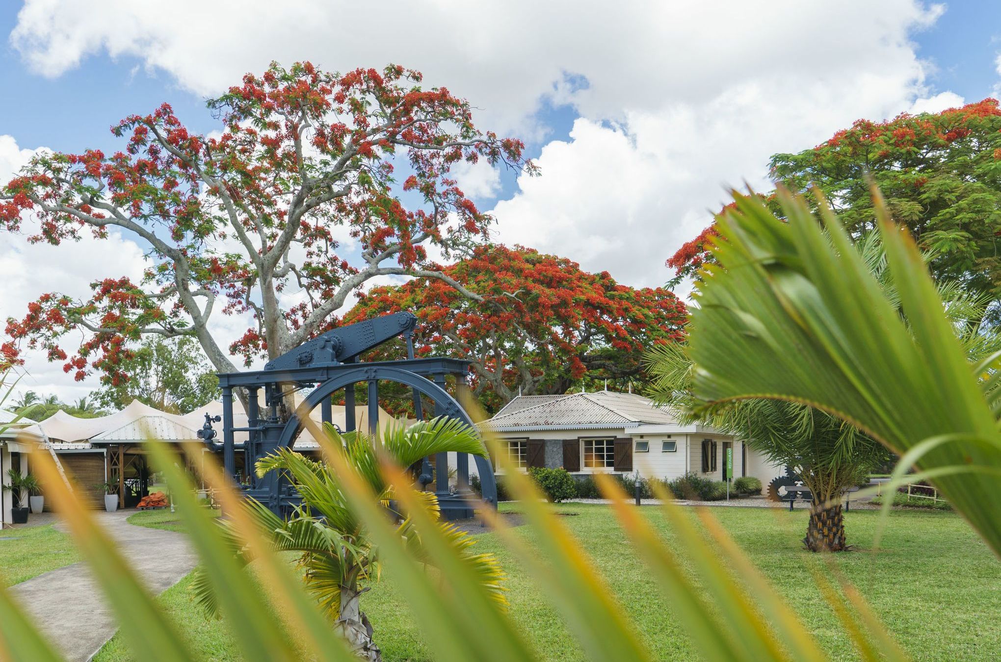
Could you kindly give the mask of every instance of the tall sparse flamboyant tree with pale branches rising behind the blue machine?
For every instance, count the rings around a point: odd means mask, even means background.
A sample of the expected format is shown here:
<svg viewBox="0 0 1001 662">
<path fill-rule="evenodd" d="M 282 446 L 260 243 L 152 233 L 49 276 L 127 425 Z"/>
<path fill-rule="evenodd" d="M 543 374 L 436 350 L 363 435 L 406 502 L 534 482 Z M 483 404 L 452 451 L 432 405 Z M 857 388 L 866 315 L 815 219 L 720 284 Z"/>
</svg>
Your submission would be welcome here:
<svg viewBox="0 0 1001 662">
<path fill-rule="evenodd" d="M 338 75 L 272 64 L 208 101 L 217 137 L 189 131 L 163 105 L 112 127 L 122 151 L 35 156 L 0 189 L 8 231 L 30 215 L 34 242 L 117 228 L 148 247 L 150 266 L 139 282 L 108 274 L 84 300 L 42 294 L 8 319 L 7 334 L 48 350 L 77 379 L 96 369 L 114 385 L 127 379 L 123 352 L 144 335 L 193 336 L 216 369 L 231 371 L 230 352 L 274 357 L 325 328 L 372 277 L 453 285 L 426 247 L 461 255 L 492 219 L 450 168 L 535 166 L 521 141 L 476 129 L 465 100 L 419 82 L 399 66 Z M 254 319 L 229 352 L 209 330 L 220 313 Z M 63 347 L 71 331 L 83 332 L 77 348 Z"/>
</svg>

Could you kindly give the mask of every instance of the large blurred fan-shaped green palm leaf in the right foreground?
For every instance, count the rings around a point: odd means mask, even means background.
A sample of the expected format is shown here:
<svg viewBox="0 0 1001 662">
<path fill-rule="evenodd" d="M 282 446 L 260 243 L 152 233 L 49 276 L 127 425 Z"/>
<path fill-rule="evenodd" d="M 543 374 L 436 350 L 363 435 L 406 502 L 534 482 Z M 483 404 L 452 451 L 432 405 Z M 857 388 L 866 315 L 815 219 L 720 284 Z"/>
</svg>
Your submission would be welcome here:
<svg viewBox="0 0 1001 662">
<path fill-rule="evenodd" d="M 914 242 L 885 206 L 877 204 L 879 229 L 902 314 L 830 211 L 821 224 L 802 198 L 785 191 L 779 198 L 787 223 L 753 196 L 735 194 L 736 209 L 719 225 L 719 266 L 709 268 L 692 312 L 690 355 L 702 406 L 801 402 L 901 455 L 946 435 L 948 443 L 917 459 L 921 469 L 1001 467 L 980 372 L 967 361 Z M 1001 553 L 1001 478 L 954 469 L 935 482 Z"/>
</svg>

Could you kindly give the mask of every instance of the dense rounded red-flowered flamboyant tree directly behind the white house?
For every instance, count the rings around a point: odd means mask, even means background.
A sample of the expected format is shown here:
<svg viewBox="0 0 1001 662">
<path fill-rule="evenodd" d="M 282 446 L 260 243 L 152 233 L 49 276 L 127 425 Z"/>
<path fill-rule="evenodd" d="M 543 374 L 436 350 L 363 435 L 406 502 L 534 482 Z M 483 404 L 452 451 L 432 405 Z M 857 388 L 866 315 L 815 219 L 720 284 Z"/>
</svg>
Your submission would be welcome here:
<svg viewBox="0 0 1001 662">
<path fill-rule="evenodd" d="M 682 337 L 685 304 L 669 290 L 621 285 L 608 272 L 529 248 L 481 246 L 441 271 L 362 295 L 345 322 L 411 310 L 415 353 L 471 362 L 472 389 L 493 408 L 518 395 L 564 393 L 584 379 L 630 379 L 643 350 Z"/>
</svg>

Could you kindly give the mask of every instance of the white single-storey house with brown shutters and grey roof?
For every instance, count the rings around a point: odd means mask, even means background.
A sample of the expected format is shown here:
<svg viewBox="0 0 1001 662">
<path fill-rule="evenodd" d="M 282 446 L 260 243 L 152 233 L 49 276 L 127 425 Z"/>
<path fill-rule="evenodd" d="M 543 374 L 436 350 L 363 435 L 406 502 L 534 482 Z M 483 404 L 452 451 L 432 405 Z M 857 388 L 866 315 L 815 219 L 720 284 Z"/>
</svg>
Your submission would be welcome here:
<svg viewBox="0 0 1001 662">
<path fill-rule="evenodd" d="M 733 449 L 735 478 L 754 476 L 767 484 L 782 473 L 732 435 L 681 425 L 669 409 L 633 393 L 520 396 L 482 427 L 523 468 L 563 467 L 578 476 L 639 472 L 669 480 L 694 472 L 722 480 L 727 449 Z"/>
</svg>

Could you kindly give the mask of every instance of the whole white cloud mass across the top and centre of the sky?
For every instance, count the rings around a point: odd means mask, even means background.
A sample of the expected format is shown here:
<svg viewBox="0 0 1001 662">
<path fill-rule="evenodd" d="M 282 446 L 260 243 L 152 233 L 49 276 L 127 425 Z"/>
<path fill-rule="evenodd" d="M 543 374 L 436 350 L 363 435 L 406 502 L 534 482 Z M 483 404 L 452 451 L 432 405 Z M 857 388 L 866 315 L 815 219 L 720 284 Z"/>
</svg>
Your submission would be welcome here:
<svg viewBox="0 0 1001 662">
<path fill-rule="evenodd" d="M 204 95 L 272 59 L 341 71 L 396 62 L 469 98 L 481 126 L 534 139 L 545 136 L 538 111 L 567 104 L 578 117 L 569 140 L 546 144 L 543 175 L 496 204 L 497 236 L 656 285 L 671 275 L 665 259 L 725 200 L 724 185 L 768 186 L 771 154 L 860 117 L 960 103 L 925 86 L 912 42 L 942 11 L 916 0 L 300 0 L 280 10 L 177 0 L 169 12 L 27 0 L 10 40 L 41 75 L 107 54 Z M 498 190 L 488 169 L 461 175 L 469 194 Z"/>
</svg>

